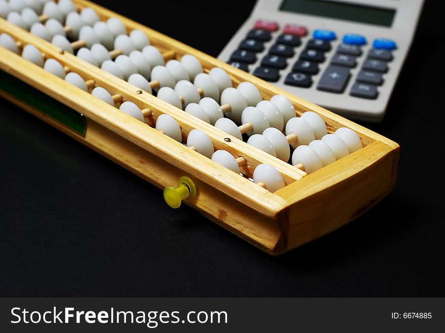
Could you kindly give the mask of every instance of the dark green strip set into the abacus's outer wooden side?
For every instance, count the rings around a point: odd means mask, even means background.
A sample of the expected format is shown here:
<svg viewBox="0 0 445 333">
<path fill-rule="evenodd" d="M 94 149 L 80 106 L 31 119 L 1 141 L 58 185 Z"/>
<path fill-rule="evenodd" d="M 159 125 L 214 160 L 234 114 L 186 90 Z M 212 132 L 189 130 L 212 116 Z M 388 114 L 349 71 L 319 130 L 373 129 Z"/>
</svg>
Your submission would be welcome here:
<svg viewBox="0 0 445 333">
<path fill-rule="evenodd" d="M 82 114 L 3 70 L 0 70 L 0 89 L 65 125 L 76 134 L 85 136 L 86 121 Z"/>
</svg>

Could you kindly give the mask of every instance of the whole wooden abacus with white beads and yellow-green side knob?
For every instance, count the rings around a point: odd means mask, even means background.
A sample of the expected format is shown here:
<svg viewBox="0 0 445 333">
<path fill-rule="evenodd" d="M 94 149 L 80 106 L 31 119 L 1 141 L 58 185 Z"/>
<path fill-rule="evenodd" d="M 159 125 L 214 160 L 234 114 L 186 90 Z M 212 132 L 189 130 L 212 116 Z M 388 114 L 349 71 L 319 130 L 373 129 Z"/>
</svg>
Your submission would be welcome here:
<svg viewBox="0 0 445 333">
<path fill-rule="evenodd" d="M 265 252 L 394 187 L 395 142 L 119 14 L 2 0 L 0 15 L 4 98 Z"/>
</svg>

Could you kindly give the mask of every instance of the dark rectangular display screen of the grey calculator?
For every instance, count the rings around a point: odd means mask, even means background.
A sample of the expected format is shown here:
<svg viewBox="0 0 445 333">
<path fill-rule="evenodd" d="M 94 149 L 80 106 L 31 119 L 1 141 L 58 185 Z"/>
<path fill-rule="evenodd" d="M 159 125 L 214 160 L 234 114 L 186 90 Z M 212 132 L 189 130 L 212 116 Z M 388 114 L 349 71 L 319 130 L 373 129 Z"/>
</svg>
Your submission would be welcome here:
<svg viewBox="0 0 445 333">
<path fill-rule="evenodd" d="M 390 27 L 395 10 L 324 0 L 284 0 L 281 10 Z"/>
</svg>

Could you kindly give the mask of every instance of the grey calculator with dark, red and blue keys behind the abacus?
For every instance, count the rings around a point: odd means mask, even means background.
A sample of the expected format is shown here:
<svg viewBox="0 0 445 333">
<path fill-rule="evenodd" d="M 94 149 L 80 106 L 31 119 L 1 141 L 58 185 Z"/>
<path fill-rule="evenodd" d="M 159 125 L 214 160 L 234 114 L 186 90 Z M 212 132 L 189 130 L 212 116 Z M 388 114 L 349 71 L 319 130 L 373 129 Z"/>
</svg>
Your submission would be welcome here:
<svg viewBox="0 0 445 333">
<path fill-rule="evenodd" d="M 383 119 L 423 0 L 259 0 L 219 60 L 357 120 Z"/>
</svg>

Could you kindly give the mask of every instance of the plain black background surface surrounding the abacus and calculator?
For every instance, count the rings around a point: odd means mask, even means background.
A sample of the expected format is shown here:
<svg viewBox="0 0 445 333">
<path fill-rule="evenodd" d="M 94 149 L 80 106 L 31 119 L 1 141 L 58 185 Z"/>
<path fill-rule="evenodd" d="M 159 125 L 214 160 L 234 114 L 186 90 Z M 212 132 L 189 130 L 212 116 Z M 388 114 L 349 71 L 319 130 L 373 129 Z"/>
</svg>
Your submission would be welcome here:
<svg viewBox="0 0 445 333">
<path fill-rule="evenodd" d="M 98 3 L 217 56 L 253 2 Z M 387 117 L 394 191 L 348 225 L 269 256 L 5 100 L 0 296 L 445 296 L 443 39 L 427 2 Z M 441 96 L 442 95 L 442 96 Z"/>
</svg>

